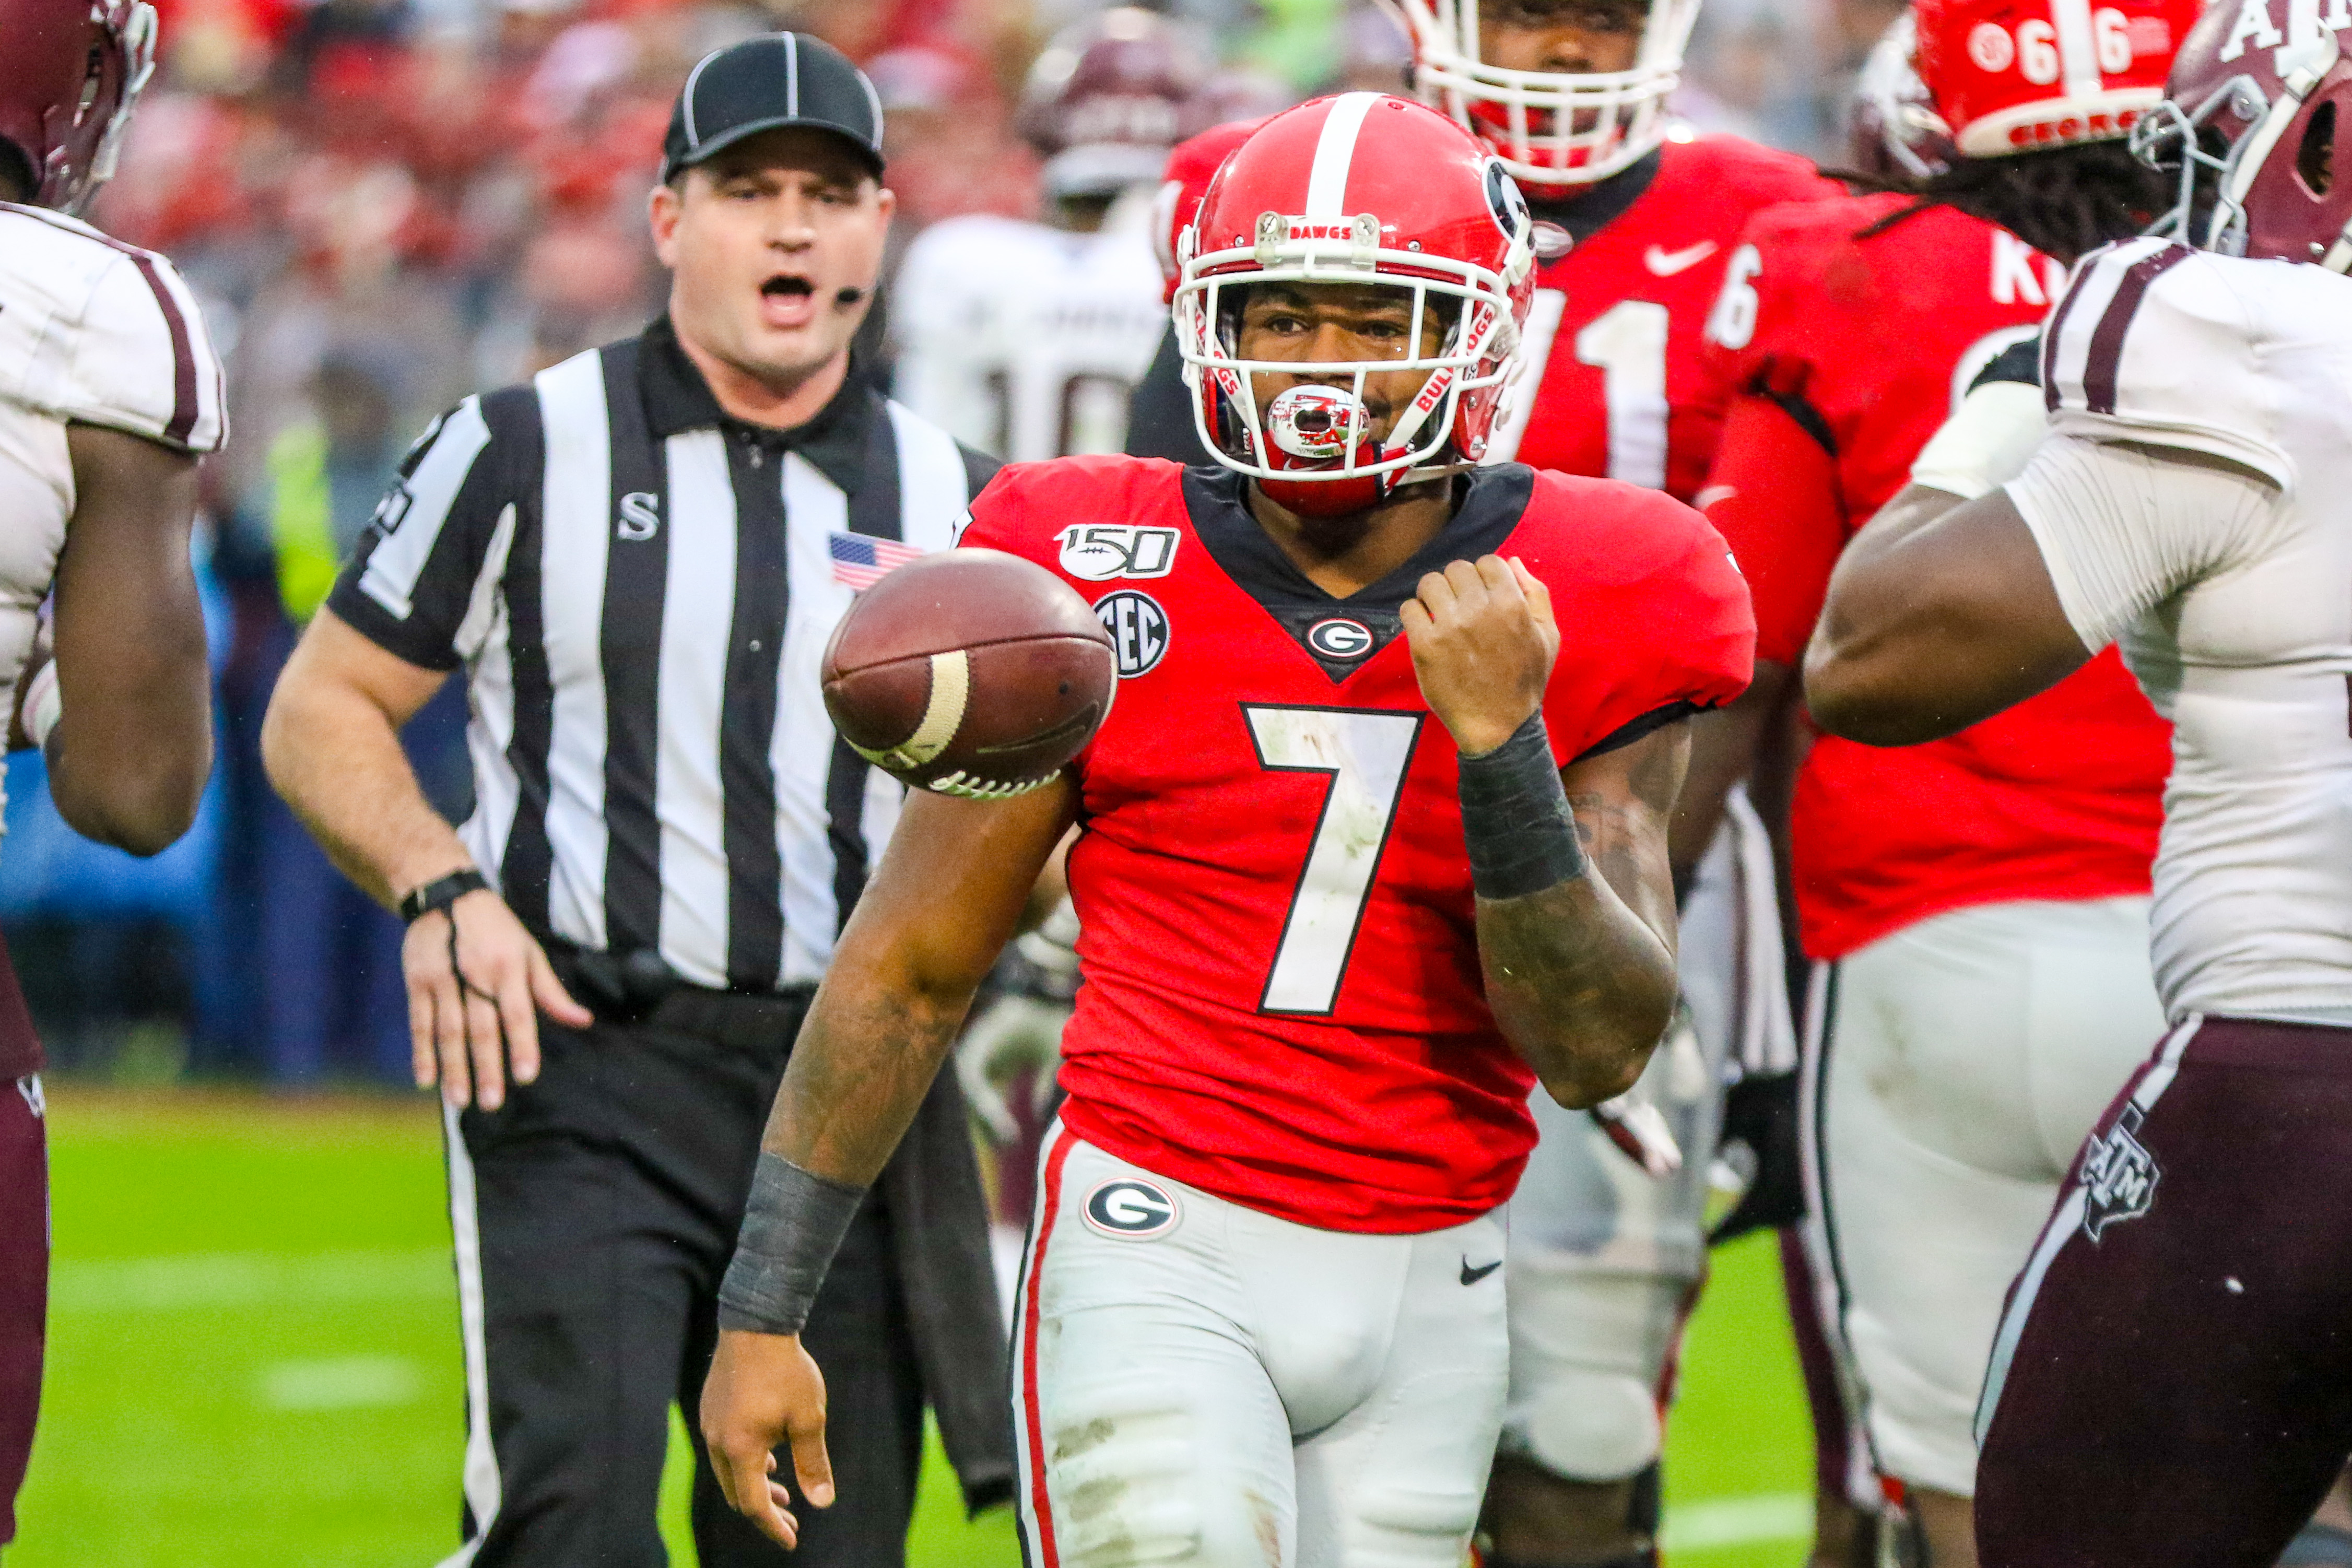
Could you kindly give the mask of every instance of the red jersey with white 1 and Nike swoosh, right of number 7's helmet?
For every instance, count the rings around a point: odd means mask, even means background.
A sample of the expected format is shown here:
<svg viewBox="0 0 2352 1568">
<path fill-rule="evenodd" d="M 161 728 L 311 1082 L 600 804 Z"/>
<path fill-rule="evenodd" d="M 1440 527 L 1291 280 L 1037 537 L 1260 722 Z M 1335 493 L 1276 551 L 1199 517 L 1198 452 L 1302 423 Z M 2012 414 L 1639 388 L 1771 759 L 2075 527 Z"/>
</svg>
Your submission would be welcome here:
<svg viewBox="0 0 2352 1568">
<path fill-rule="evenodd" d="M 1646 183 L 1644 183 L 1646 179 Z M 1571 202 L 1534 200 L 1526 386 L 1491 461 L 1606 475 L 1691 501 L 1715 461 L 1726 388 L 1700 331 L 1740 226 L 1764 207 L 1835 195 L 1813 165 L 1738 136 L 1668 141 Z M 1536 193 L 1541 197 L 1541 193 Z M 1628 200 L 1630 197 L 1630 200 Z M 1550 235 L 1545 233 L 1550 228 Z"/>
</svg>

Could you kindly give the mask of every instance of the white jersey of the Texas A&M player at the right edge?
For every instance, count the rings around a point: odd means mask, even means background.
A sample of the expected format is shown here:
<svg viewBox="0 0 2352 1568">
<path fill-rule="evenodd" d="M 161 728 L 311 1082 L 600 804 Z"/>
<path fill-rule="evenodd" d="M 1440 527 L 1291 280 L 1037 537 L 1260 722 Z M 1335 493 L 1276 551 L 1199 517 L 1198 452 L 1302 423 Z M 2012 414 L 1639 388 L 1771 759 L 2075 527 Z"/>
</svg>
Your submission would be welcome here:
<svg viewBox="0 0 2352 1568">
<path fill-rule="evenodd" d="M 2352 1025 L 2352 277 L 2117 244 L 2053 313 L 2044 386 L 2009 494 L 2077 632 L 2173 719 L 2164 1006 Z"/>
</svg>

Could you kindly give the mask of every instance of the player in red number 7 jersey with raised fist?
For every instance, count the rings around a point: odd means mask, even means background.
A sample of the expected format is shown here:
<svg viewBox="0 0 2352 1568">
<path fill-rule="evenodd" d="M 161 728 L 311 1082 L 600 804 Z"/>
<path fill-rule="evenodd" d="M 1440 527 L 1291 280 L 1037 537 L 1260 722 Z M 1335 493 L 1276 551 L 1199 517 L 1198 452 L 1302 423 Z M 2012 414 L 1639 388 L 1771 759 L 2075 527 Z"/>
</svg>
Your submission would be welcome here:
<svg viewBox="0 0 2352 1568">
<path fill-rule="evenodd" d="M 1096 602 L 1120 703 L 1033 795 L 910 802 L 779 1093 L 703 1406 L 779 1540 L 779 1441 L 830 1500 L 804 1295 L 1068 823 L 1084 987 L 1016 1312 L 1040 1568 L 1456 1568 L 1526 1095 L 1623 1091 L 1668 1023 L 1665 818 L 1745 590 L 1668 496 L 1470 468 L 1531 282 L 1510 176 L 1343 94 L 1251 136 L 1183 266 L 1225 473 L 1014 465 L 967 531 Z"/>
</svg>

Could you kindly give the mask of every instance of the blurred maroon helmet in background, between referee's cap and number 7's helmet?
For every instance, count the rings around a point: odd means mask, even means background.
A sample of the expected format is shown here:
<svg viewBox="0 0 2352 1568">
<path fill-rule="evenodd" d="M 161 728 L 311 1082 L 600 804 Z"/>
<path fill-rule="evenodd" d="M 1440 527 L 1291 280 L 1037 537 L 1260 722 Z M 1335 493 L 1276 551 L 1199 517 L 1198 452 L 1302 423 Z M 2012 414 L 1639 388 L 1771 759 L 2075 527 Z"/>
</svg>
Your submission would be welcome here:
<svg viewBox="0 0 2352 1568">
<path fill-rule="evenodd" d="M 1063 28 L 1030 68 L 1021 132 L 1047 195 L 1117 195 L 1160 179 L 1207 71 L 1164 16 L 1120 5 Z"/>
</svg>

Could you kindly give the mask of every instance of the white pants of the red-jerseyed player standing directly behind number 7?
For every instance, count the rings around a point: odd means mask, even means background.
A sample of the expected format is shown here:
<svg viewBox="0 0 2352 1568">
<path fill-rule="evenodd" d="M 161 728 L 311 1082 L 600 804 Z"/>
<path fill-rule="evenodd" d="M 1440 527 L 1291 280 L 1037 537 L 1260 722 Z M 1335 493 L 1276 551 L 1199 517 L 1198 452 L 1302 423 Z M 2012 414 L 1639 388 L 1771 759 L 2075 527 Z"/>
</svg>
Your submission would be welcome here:
<svg viewBox="0 0 2352 1568">
<path fill-rule="evenodd" d="M 1503 1441 L 1552 1474 L 1623 1481 L 1658 1458 L 1675 1345 L 1708 1272 L 1708 1166 L 1726 1063 L 1797 1065 L 1771 842 L 1743 792 L 1682 905 L 1682 1009 L 1642 1074 L 1682 1145 L 1653 1178 L 1541 1088 L 1543 1140 L 1510 1199 Z"/>
</svg>

